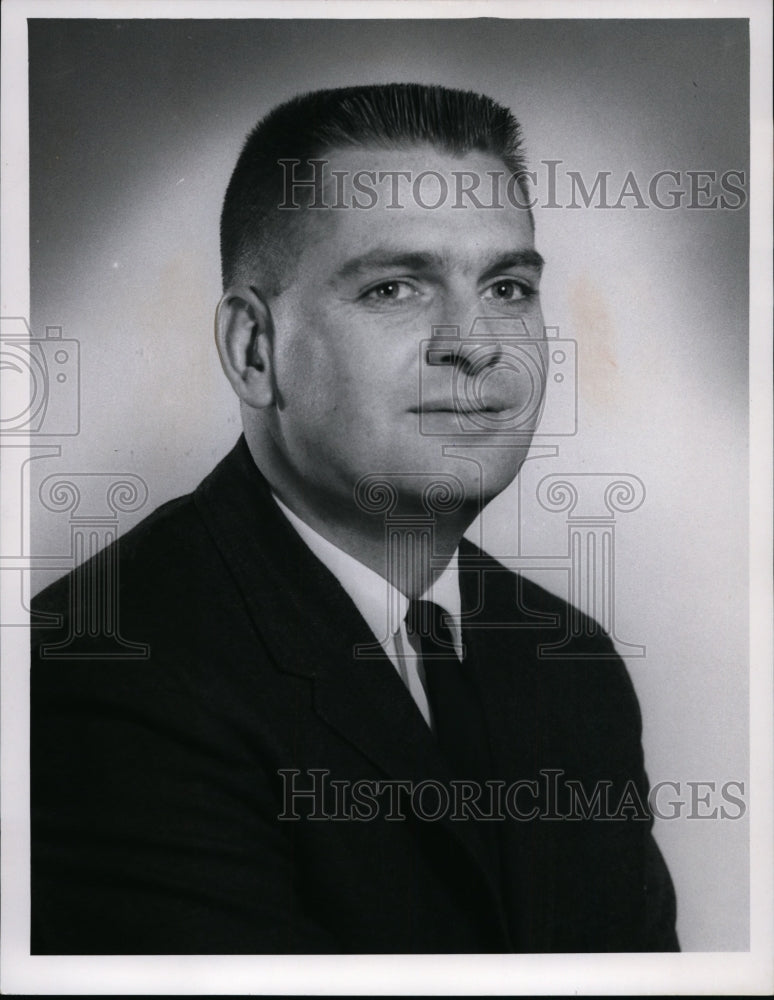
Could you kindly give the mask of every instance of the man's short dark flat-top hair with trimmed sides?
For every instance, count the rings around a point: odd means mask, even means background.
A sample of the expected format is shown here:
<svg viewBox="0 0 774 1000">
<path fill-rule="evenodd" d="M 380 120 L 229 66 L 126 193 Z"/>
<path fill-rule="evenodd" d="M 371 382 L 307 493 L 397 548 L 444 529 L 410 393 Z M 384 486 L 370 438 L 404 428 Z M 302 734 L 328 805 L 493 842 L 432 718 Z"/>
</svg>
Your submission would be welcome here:
<svg viewBox="0 0 774 1000">
<path fill-rule="evenodd" d="M 220 220 L 224 288 L 259 275 L 276 293 L 297 257 L 299 215 L 281 211 L 284 170 L 303 170 L 326 152 L 429 143 L 461 155 L 472 150 L 501 159 L 526 195 L 521 126 L 508 108 L 473 91 L 418 83 L 316 90 L 270 111 L 249 133 L 231 175 Z M 296 171 L 294 176 L 301 176 Z M 531 212 L 530 212 L 531 218 Z"/>
</svg>

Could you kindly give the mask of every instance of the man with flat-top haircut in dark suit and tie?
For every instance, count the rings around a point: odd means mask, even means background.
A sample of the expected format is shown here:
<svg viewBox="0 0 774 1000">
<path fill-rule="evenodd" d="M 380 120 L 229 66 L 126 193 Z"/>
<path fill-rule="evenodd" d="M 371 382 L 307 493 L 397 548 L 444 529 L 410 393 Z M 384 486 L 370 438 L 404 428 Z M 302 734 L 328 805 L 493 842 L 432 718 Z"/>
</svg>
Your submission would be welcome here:
<svg viewBox="0 0 774 1000">
<path fill-rule="evenodd" d="M 545 387 L 523 170 L 511 114 L 441 87 L 248 138 L 216 321 L 244 436 L 121 540 L 146 661 L 35 637 L 33 950 L 677 947 L 623 664 L 463 539 Z M 37 604 L 65 635 L 85 573 Z"/>
</svg>

